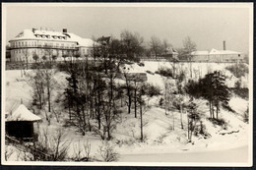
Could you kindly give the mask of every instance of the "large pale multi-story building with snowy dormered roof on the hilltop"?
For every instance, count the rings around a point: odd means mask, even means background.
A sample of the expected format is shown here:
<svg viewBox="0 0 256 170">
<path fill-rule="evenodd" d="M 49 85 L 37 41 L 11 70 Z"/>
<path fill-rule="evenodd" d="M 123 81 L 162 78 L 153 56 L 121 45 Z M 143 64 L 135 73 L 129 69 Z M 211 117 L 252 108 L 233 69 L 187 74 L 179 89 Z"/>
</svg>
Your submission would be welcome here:
<svg viewBox="0 0 256 170">
<path fill-rule="evenodd" d="M 97 43 L 89 38 L 82 38 L 70 33 L 66 28 L 62 32 L 46 29 L 25 29 L 10 41 L 11 62 L 35 60 L 57 60 L 79 54 L 81 57 L 93 55 Z"/>
</svg>

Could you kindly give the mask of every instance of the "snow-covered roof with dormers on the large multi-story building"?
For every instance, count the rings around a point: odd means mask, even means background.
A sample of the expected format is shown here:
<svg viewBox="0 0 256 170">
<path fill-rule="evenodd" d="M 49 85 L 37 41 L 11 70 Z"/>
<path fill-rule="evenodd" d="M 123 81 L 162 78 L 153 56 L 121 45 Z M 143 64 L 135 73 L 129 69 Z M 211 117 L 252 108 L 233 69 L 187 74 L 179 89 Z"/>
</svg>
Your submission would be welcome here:
<svg viewBox="0 0 256 170">
<path fill-rule="evenodd" d="M 76 42 L 78 46 L 93 47 L 97 42 L 90 38 L 83 38 L 75 33 L 59 32 L 53 30 L 42 29 L 24 29 L 13 40 L 36 39 L 36 40 L 52 40 L 52 41 L 69 41 Z"/>
</svg>

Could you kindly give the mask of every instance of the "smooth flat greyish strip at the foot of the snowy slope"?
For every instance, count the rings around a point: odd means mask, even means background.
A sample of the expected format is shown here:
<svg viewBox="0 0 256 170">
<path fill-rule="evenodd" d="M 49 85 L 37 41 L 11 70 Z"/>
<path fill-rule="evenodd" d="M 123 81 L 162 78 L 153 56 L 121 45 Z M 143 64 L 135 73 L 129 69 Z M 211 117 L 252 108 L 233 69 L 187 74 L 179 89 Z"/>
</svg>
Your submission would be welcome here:
<svg viewBox="0 0 256 170">
<path fill-rule="evenodd" d="M 246 163 L 248 162 L 248 147 L 241 146 L 226 150 L 204 151 L 204 152 L 175 152 L 175 153 L 153 153 L 153 154 L 123 154 L 120 162 L 186 162 L 186 163 Z"/>
</svg>

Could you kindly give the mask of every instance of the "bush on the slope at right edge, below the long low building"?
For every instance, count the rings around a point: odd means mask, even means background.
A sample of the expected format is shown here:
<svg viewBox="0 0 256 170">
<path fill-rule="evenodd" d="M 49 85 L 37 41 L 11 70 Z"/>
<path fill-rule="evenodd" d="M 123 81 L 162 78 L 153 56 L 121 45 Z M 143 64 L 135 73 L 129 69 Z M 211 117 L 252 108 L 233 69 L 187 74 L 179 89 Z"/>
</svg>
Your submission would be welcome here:
<svg viewBox="0 0 256 170">
<path fill-rule="evenodd" d="M 236 78 L 241 78 L 249 73 L 248 66 L 243 63 L 227 66 L 225 69 L 231 72 Z"/>
</svg>

